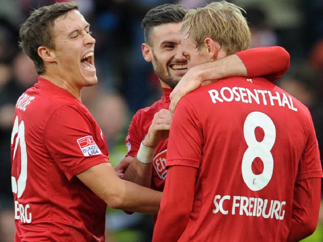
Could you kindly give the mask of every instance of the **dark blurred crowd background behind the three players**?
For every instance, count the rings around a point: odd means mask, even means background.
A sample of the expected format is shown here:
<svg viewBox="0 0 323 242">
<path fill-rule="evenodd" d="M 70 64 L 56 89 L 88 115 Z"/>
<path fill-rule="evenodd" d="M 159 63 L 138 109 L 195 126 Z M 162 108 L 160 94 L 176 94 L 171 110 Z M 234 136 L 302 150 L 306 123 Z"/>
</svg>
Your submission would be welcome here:
<svg viewBox="0 0 323 242">
<path fill-rule="evenodd" d="M 0 241 L 13 241 L 10 139 L 14 105 L 34 83 L 33 63 L 18 48 L 18 30 L 30 11 L 64 0 L 0 0 Z M 158 100 L 159 81 L 141 54 L 140 26 L 145 13 L 160 4 L 195 8 L 205 0 L 76 0 L 91 24 L 99 83 L 82 91 L 82 100 L 107 139 L 111 162 L 126 154 L 125 137 L 132 115 Z M 323 147 L 323 1 L 237 0 L 251 28 L 251 47 L 279 45 L 291 55 L 291 68 L 277 84 L 312 113 L 320 154 Z M 323 198 L 323 196 L 322 196 Z M 321 206 L 322 207 L 322 206 Z M 322 211 L 322 209 L 321 209 Z M 323 211 L 315 233 L 303 241 L 323 241 Z M 148 215 L 107 210 L 106 241 L 150 241 Z"/>
</svg>

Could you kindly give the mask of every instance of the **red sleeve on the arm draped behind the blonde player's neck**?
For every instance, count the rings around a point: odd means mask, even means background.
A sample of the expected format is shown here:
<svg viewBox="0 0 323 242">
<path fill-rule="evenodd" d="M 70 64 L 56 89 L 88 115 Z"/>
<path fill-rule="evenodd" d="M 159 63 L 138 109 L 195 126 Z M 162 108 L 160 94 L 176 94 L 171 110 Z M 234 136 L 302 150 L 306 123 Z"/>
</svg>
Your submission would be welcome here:
<svg viewBox="0 0 323 242">
<path fill-rule="evenodd" d="M 290 55 L 280 46 L 251 48 L 236 54 L 245 65 L 248 77 L 264 77 L 275 82 L 290 66 Z"/>
</svg>

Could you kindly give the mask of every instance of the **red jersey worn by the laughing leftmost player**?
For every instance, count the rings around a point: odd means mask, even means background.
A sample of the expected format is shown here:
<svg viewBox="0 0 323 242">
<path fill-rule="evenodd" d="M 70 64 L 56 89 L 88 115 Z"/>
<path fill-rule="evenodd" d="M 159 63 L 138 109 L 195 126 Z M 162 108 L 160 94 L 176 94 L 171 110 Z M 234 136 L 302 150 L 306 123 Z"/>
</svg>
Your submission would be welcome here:
<svg viewBox="0 0 323 242">
<path fill-rule="evenodd" d="M 109 153 L 79 100 L 39 78 L 17 101 L 11 155 L 15 241 L 104 241 L 106 204 L 76 174 Z"/>
</svg>

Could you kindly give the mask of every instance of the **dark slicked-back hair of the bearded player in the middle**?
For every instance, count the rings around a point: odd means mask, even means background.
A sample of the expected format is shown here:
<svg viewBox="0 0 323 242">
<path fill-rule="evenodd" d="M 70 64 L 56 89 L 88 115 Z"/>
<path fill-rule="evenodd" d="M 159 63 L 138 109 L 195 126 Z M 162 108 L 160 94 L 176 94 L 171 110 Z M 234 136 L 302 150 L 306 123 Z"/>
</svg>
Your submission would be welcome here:
<svg viewBox="0 0 323 242">
<path fill-rule="evenodd" d="M 164 4 L 149 10 L 141 22 L 145 32 L 145 42 L 150 43 L 150 32 L 153 27 L 182 22 L 187 12 L 188 9 L 178 4 Z"/>
</svg>

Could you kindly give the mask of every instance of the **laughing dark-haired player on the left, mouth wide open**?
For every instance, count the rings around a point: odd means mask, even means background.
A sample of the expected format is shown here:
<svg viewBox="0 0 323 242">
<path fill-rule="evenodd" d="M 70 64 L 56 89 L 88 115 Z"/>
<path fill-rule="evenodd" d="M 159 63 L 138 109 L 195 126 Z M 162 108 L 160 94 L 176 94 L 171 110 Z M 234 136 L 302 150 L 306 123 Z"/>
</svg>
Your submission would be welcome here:
<svg viewBox="0 0 323 242">
<path fill-rule="evenodd" d="M 157 213 L 161 193 L 119 178 L 81 102 L 97 83 L 89 24 L 75 3 L 33 11 L 20 46 L 38 83 L 18 99 L 11 139 L 15 241 L 105 241 L 106 205 Z"/>
</svg>

